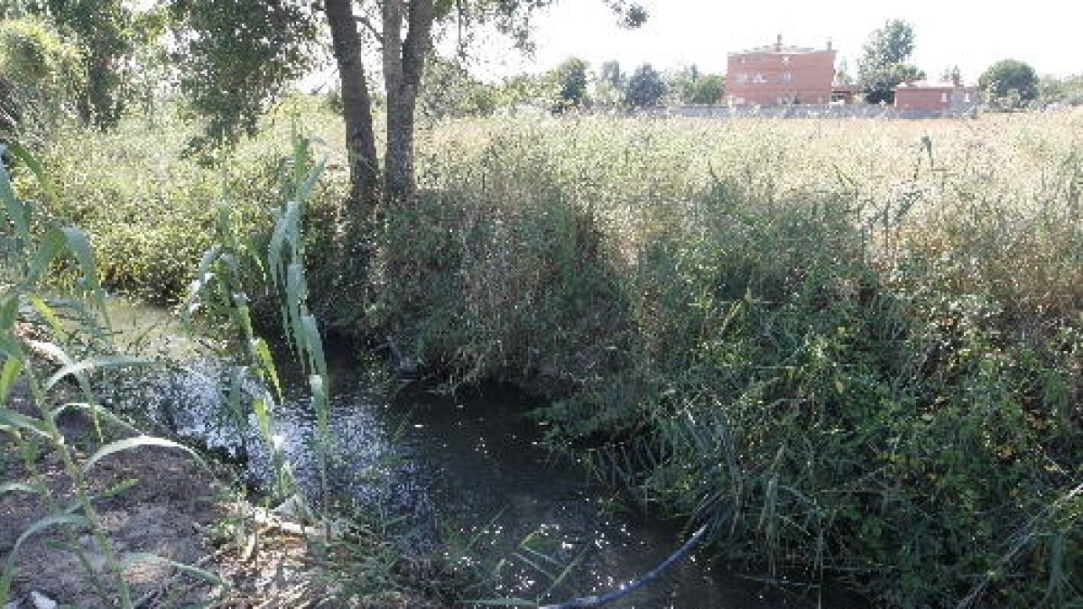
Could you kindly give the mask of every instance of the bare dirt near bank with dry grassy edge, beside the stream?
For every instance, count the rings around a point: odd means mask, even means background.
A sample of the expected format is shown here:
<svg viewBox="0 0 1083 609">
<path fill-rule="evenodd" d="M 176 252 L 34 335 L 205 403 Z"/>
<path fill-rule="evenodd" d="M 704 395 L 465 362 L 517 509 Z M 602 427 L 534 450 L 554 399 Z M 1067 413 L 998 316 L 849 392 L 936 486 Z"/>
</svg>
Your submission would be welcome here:
<svg viewBox="0 0 1083 609">
<path fill-rule="evenodd" d="M 16 388 L 8 405 L 27 416 L 35 414 L 22 388 Z M 67 415 L 61 425 L 68 442 L 77 446 L 80 461 L 99 445 L 90 418 Z M 35 479 L 19 463 L 18 453 L 6 438 L 0 438 L 0 479 Z M 439 597 L 446 591 L 432 576 L 438 571 L 426 567 L 420 556 L 397 559 L 397 550 L 387 547 L 390 540 L 364 528 L 342 529 L 328 546 L 318 535 L 290 524 L 287 516 L 257 517 L 271 513 L 250 503 L 258 497 L 238 495 L 237 472 L 207 456 L 200 465 L 188 454 L 147 446 L 116 453 L 96 467 L 90 491 L 100 497 L 95 507 L 113 550 L 121 561 L 133 561 L 126 568 L 125 579 L 136 607 L 207 602 L 212 607 L 371 609 L 452 606 Z M 52 496 L 62 504 L 75 501 L 56 453 L 42 452 L 31 462 L 35 476 L 49 487 Z M 16 540 L 32 523 L 50 516 L 51 508 L 41 495 L 5 492 L 0 494 L 0 559 L 6 560 Z M 22 543 L 5 608 L 40 607 L 31 598 L 35 595 L 39 595 L 37 602 L 43 597 L 62 606 L 102 606 L 95 578 L 107 579 L 106 557 L 90 534 L 75 540 L 82 557 L 56 532 L 39 532 Z M 342 555 L 366 546 L 369 558 L 392 560 L 387 567 L 399 570 L 395 583 L 381 579 L 389 578 L 388 573 Z M 146 554 L 165 560 L 139 559 Z M 82 560 L 89 561 L 90 569 Z M 349 566 L 353 572 L 340 572 Z M 193 575 L 191 568 L 201 573 Z M 366 578 L 371 579 L 366 585 L 350 585 Z M 410 581 L 416 587 L 406 584 Z"/>
</svg>

